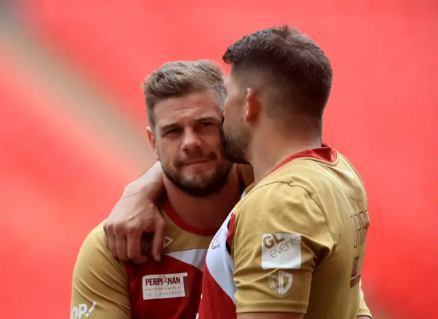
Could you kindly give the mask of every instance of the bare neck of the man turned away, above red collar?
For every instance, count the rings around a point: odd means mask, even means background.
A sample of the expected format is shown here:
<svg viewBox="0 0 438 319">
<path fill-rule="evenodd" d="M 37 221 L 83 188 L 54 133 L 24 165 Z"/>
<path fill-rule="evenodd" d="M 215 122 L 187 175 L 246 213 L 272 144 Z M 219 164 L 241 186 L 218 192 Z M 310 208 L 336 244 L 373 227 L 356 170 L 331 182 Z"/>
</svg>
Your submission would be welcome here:
<svg viewBox="0 0 438 319">
<path fill-rule="evenodd" d="M 248 162 L 254 168 L 255 183 L 259 183 L 290 155 L 321 147 L 321 128 L 319 120 L 311 125 L 307 123 L 305 129 L 297 127 L 292 132 L 279 131 L 274 125 L 257 130 L 248 150 Z"/>
</svg>

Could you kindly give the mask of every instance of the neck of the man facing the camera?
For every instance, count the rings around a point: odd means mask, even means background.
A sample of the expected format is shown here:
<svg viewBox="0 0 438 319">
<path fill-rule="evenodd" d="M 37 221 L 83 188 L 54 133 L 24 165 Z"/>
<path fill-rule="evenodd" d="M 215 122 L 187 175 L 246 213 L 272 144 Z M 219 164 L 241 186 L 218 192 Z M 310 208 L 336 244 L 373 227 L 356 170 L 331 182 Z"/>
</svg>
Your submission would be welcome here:
<svg viewBox="0 0 438 319">
<path fill-rule="evenodd" d="M 190 227 L 217 230 L 242 194 L 235 167 L 222 190 L 205 197 L 192 196 L 164 178 L 167 197 L 178 216 Z"/>
</svg>

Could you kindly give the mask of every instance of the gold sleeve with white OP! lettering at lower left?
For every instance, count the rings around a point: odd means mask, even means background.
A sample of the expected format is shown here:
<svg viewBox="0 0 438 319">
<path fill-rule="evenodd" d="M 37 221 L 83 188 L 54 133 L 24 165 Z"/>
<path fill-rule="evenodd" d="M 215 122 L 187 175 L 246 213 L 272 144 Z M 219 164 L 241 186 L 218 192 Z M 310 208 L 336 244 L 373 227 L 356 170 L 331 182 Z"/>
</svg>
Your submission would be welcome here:
<svg viewBox="0 0 438 319">
<path fill-rule="evenodd" d="M 131 319 L 131 302 L 123 264 L 105 245 L 103 225 L 83 242 L 75 269 L 70 319 Z"/>
</svg>

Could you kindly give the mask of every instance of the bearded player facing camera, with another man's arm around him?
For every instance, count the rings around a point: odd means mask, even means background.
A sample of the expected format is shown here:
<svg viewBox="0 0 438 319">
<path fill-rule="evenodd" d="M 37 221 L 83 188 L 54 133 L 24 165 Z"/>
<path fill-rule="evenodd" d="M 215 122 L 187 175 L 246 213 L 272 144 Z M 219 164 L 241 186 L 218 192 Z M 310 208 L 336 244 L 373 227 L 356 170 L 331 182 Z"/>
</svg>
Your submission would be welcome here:
<svg viewBox="0 0 438 319">
<path fill-rule="evenodd" d="M 220 66 L 166 63 L 148 77 L 144 94 L 147 135 L 164 172 L 164 255 L 146 265 L 118 261 L 97 226 L 75 264 L 71 319 L 194 318 L 205 253 L 244 189 L 222 148 Z"/>
</svg>

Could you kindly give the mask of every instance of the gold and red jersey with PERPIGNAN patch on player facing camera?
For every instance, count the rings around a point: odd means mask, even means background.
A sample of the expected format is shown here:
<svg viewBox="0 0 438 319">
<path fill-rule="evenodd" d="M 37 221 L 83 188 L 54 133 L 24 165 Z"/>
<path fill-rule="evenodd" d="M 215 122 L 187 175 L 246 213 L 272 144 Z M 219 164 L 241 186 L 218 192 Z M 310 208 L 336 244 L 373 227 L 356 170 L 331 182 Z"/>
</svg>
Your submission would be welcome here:
<svg viewBox="0 0 438 319">
<path fill-rule="evenodd" d="M 103 223 L 81 246 L 73 272 L 70 319 L 194 319 L 201 298 L 205 253 L 216 229 L 190 227 L 167 201 L 159 263 L 137 265 L 112 257 Z"/>
</svg>

